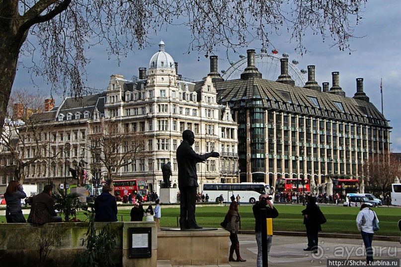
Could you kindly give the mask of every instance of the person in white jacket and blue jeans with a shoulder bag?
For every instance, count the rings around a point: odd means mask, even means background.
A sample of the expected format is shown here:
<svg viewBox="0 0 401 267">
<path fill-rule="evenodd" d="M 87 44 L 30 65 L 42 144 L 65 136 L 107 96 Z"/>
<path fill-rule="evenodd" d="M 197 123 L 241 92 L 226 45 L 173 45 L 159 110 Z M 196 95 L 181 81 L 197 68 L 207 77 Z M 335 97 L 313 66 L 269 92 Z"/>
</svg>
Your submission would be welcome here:
<svg viewBox="0 0 401 267">
<path fill-rule="evenodd" d="M 356 227 L 361 232 L 362 240 L 366 250 L 366 261 L 369 263 L 373 262 L 373 220 L 379 223 L 379 219 L 376 213 L 369 208 L 367 204 L 362 204 L 358 215 L 356 216 Z"/>
</svg>

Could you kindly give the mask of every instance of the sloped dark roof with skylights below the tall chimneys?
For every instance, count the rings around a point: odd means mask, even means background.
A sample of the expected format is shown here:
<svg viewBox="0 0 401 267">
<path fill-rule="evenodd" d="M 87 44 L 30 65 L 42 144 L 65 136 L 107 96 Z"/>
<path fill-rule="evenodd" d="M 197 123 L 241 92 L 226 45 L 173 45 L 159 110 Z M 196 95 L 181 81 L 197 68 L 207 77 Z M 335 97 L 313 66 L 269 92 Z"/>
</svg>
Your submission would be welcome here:
<svg viewBox="0 0 401 267">
<path fill-rule="evenodd" d="M 196 89 L 203 83 L 197 82 Z M 257 77 L 217 81 L 215 88 L 221 104 L 229 102 L 233 110 L 262 107 L 389 127 L 372 103 L 360 99 Z"/>
</svg>

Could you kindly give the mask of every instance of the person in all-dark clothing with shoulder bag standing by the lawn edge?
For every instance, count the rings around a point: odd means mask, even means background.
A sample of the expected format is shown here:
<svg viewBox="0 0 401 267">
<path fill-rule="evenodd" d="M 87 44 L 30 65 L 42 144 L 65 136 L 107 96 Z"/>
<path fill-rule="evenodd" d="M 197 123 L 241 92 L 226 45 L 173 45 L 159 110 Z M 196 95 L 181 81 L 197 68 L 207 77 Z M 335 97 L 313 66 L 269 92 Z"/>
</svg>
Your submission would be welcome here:
<svg viewBox="0 0 401 267">
<path fill-rule="evenodd" d="M 306 227 L 306 235 L 308 237 L 308 247 L 305 251 L 312 251 L 312 253 L 318 253 L 319 247 L 319 231 L 321 231 L 320 221 L 321 210 L 316 204 L 316 198 L 313 196 L 307 196 L 306 208 L 302 210 L 304 215 L 304 224 Z"/>
</svg>

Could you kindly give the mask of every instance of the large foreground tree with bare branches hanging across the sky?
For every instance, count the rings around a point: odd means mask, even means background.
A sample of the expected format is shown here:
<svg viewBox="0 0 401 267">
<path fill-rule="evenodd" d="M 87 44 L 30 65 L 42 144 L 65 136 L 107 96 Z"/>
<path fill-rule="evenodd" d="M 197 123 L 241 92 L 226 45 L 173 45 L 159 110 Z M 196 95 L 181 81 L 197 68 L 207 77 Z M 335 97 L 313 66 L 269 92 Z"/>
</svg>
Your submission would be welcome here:
<svg viewBox="0 0 401 267">
<path fill-rule="evenodd" d="M 106 44 L 117 59 L 143 48 L 148 37 L 170 25 L 192 35 L 188 53 L 206 56 L 219 46 L 244 47 L 289 33 L 305 51 L 305 35 L 321 35 L 349 49 L 353 28 L 367 0 L 2 0 L 0 1 L 0 112 L 6 110 L 18 57 L 32 58 L 31 73 L 56 88 L 81 95 L 85 56 Z M 39 53 L 39 55 L 36 55 Z M 2 114 L 2 113 L 0 113 Z M 0 125 L 4 117 L 0 117 Z"/>
</svg>

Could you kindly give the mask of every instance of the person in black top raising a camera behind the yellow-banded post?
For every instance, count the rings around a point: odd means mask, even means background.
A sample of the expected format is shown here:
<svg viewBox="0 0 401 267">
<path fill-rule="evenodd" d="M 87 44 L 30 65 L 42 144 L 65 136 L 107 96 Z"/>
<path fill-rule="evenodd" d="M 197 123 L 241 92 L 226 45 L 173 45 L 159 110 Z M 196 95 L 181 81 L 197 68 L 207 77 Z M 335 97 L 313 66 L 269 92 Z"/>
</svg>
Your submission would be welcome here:
<svg viewBox="0 0 401 267">
<path fill-rule="evenodd" d="M 269 195 L 260 195 L 259 201 L 252 207 L 253 216 L 255 217 L 255 238 L 257 244 L 257 258 L 256 258 L 256 266 L 262 267 L 263 259 L 262 259 L 262 225 L 261 225 L 261 214 L 260 210 L 262 208 L 266 209 L 266 218 L 276 218 L 278 216 L 277 209 L 273 206 L 272 202 L 270 202 L 271 198 Z M 264 238 L 264 237 L 263 237 Z M 273 241 L 273 236 L 268 235 L 267 237 L 267 253 L 270 252 L 271 243 Z"/>
</svg>

